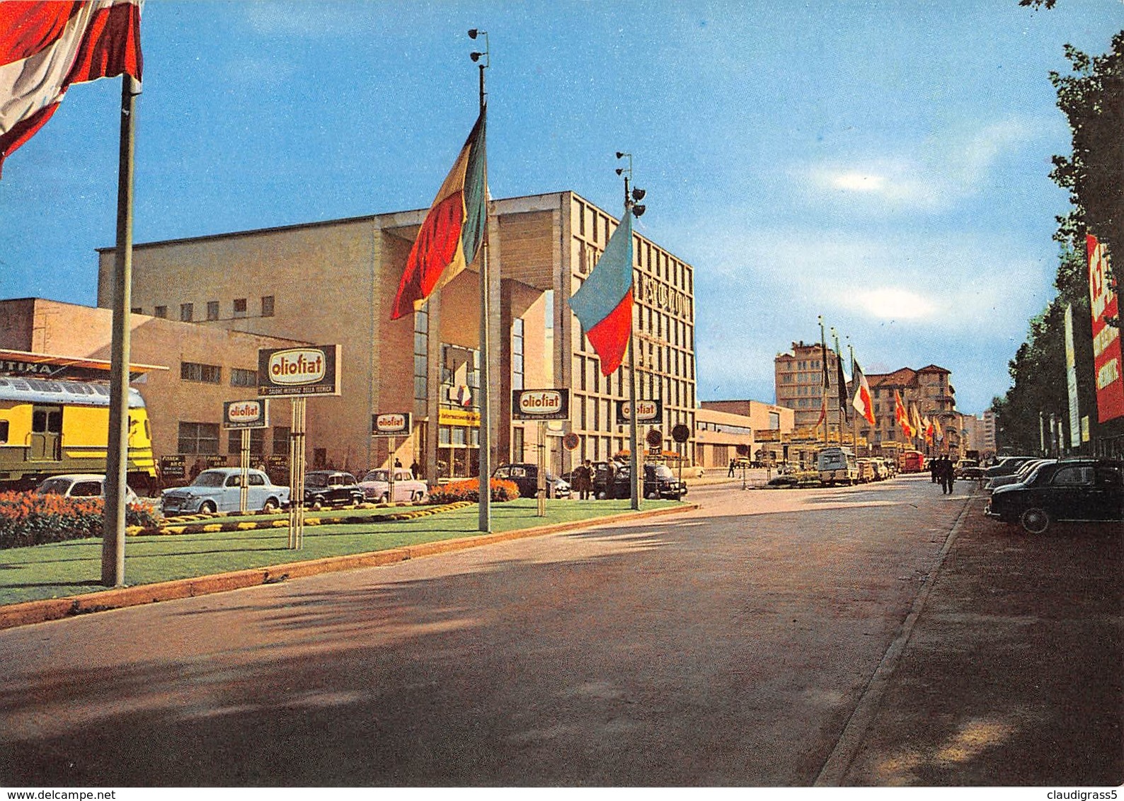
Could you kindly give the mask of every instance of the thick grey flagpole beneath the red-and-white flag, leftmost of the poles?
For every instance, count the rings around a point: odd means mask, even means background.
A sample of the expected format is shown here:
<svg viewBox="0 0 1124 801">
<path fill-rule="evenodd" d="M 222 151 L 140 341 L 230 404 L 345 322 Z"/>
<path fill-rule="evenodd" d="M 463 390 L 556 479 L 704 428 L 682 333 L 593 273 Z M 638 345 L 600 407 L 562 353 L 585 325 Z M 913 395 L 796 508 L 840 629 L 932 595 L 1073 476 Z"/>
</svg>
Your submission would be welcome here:
<svg viewBox="0 0 1124 801">
<path fill-rule="evenodd" d="M 125 585 L 125 507 L 129 447 L 129 312 L 133 298 L 133 154 L 136 133 L 134 79 L 121 75 L 121 130 L 117 174 L 117 255 L 109 366 L 109 434 L 106 506 L 101 522 L 101 583 Z"/>
</svg>

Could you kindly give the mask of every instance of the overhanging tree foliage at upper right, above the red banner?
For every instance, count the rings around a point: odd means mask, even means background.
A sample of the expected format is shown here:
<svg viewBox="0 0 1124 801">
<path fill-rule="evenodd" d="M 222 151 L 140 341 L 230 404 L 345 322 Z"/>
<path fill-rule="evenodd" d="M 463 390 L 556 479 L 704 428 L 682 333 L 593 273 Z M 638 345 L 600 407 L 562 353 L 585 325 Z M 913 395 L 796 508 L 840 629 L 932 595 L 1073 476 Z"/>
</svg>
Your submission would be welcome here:
<svg viewBox="0 0 1124 801">
<path fill-rule="evenodd" d="M 1068 189 L 1073 210 L 1057 238 L 1081 247 L 1086 230 L 1124 258 L 1124 30 L 1105 55 L 1066 45 L 1073 74 L 1050 73 L 1058 107 L 1073 131 L 1070 156 L 1054 156 L 1050 178 Z"/>
</svg>

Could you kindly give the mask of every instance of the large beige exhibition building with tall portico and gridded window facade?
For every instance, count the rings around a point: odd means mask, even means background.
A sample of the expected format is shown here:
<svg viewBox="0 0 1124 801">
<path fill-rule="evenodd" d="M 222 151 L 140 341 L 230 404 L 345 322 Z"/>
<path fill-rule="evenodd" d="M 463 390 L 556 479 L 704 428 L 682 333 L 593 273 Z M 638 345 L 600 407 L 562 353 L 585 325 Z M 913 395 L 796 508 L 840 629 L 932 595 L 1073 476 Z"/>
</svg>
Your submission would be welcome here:
<svg viewBox="0 0 1124 801">
<path fill-rule="evenodd" d="M 513 420 L 513 389 L 571 389 L 569 426 L 546 431 L 556 470 L 569 470 L 573 459 L 604 459 L 627 449 L 628 431 L 616 422 L 616 403 L 628 395 L 627 366 L 601 375 L 599 359 L 568 304 L 617 219 L 573 192 L 492 201 L 489 385 L 481 388 L 475 265 L 420 311 L 390 319 L 425 213 L 137 244 L 134 311 L 205 328 L 339 345 L 339 397 L 308 403 L 312 466 L 361 470 L 386 463 L 389 444 L 371 437 L 371 416 L 408 411 L 414 431 L 396 442 L 395 455 L 404 464 L 417 459 L 430 477 L 472 475 L 482 392 L 489 393 L 492 410 L 492 463 L 534 459 L 538 427 Z M 694 267 L 634 236 L 637 397 L 662 401 L 659 427 L 664 447 L 673 450 L 671 427 L 695 428 Z M 114 251 L 102 249 L 102 307 L 112 299 L 112 264 Z M 169 353 L 164 361 L 175 362 L 176 355 Z M 220 415 L 217 406 L 214 419 Z M 199 420 L 163 422 L 182 428 Z M 561 447 L 568 429 L 580 438 L 574 452 Z M 692 450 L 688 443 L 686 453 Z"/>
</svg>

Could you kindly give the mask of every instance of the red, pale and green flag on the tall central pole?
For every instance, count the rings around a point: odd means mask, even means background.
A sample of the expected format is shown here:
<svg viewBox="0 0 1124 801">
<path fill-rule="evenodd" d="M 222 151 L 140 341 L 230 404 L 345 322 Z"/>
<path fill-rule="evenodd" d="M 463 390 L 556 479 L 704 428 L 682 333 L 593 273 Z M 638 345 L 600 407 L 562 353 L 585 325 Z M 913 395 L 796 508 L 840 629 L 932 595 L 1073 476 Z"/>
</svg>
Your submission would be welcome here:
<svg viewBox="0 0 1124 801">
<path fill-rule="evenodd" d="M 472 264 L 488 224 L 486 109 L 441 184 L 406 260 L 390 319 L 417 311 L 426 299 Z"/>
</svg>

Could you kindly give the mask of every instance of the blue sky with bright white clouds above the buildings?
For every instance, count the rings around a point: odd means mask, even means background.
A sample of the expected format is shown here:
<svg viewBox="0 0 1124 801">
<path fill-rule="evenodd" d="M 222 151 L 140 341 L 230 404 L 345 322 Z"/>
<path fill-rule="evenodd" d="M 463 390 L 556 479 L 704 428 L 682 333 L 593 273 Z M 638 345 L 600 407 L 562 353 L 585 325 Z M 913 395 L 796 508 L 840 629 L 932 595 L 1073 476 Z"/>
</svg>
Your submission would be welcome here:
<svg viewBox="0 0 1124 801">
<path fill-rule="evenodd" d="M 492 194 L 616 211 L 631 152 L 637 230 L 696 268 L 701 399 L 771 401 L 823 315 L 868 373 L 940 364 L 979 412 L 1053 292 L 1048 72 L 1124 4 L 148 0 L 135 240 L 427 207 L 474 119 L 472 27 Z M 0 297 L 94 302 L 119 94 L 73 87 L 6 162 Z"/>
</svg>

